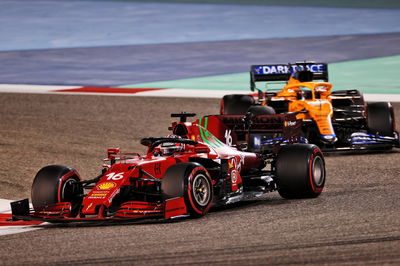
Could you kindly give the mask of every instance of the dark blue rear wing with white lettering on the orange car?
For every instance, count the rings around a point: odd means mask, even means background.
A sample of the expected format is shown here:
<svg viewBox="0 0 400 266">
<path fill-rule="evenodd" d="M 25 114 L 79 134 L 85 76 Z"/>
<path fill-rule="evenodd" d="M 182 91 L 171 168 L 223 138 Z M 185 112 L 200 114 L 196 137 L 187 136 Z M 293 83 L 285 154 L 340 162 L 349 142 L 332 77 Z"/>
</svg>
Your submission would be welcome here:
<svg viewBox="0 0 400 266">
<path fill-rule="evenodd" d="M 294 64 L 252 65 L 250 67 L 250 88 L 256 88 L 258 81 L 287 81 L 292 73 L 307 70 L 313 73 L 313 80 L 328 81 L 328 64 L 303 62 Z"/>
</svg>

